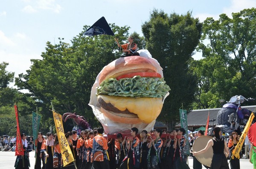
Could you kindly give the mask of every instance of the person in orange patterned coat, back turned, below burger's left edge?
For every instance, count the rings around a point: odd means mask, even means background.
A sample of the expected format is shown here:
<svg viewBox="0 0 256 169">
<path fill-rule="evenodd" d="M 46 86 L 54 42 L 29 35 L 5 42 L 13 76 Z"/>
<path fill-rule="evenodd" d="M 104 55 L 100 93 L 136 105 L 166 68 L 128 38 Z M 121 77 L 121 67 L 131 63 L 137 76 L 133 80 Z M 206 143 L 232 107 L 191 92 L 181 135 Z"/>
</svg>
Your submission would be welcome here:
<svg viewBox="0 0 256 169">
<path fill-rule="evenodd" d="M 102 137 L 103 128 L 97 129 L 98 135 L 93 138 L 93 168 L 94 169 L 109 169 L 106 150 L 108 150 L 108 142 Z"/>
</svg>

